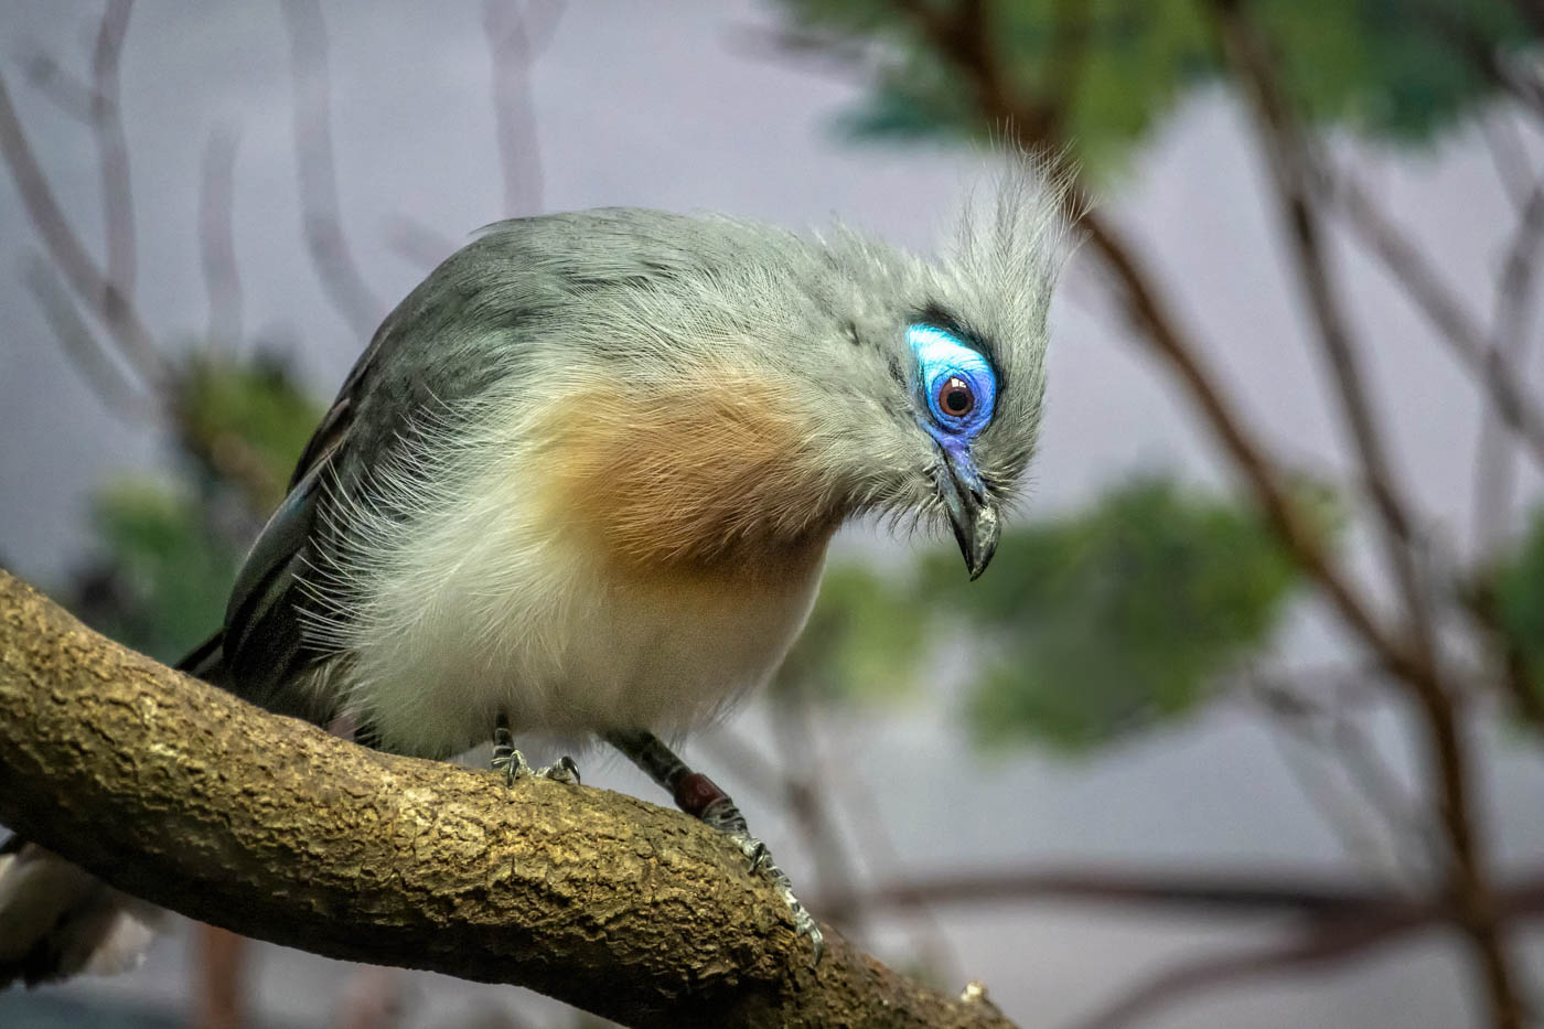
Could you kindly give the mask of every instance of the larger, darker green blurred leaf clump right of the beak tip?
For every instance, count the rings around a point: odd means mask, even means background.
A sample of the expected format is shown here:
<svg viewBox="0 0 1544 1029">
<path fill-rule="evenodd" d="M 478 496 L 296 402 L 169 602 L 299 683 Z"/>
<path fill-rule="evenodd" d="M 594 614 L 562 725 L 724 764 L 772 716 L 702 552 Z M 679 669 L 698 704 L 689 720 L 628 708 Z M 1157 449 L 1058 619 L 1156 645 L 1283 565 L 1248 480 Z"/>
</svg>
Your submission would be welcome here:
<svg viewBox="0 0 1544 1029">
<path fill-rule="evenodd" d="M 1107 743 L 1192 711 L 1265 643 L 1294 567 L 1260 519 L 1163 481 L 1007 538 L 970 589 L 956 559 L 937 595 L 979 633 L 970 718 L 987 743 Z"/>
</svg>

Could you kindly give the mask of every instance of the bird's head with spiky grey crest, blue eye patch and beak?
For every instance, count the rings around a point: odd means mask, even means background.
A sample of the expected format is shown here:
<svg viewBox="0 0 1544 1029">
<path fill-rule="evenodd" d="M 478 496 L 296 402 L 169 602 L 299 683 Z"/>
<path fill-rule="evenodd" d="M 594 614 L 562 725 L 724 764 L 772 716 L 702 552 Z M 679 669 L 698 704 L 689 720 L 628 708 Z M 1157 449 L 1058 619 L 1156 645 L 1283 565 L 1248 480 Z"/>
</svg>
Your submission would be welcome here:
<svg viewBox="0 0 1544 1029">
<path fill-rule="evenodd" d="M 823 243 L 829 280 L 806 292 L 804 343 L 778 348 L 777 363 L 800 366 L 791 382 L 831 493 L 852 511 L 946 527 L 973 579 L 1039 436 L 1058 204 L 1021 167 L 937 260 L 837 233 Z"/>
</svg>

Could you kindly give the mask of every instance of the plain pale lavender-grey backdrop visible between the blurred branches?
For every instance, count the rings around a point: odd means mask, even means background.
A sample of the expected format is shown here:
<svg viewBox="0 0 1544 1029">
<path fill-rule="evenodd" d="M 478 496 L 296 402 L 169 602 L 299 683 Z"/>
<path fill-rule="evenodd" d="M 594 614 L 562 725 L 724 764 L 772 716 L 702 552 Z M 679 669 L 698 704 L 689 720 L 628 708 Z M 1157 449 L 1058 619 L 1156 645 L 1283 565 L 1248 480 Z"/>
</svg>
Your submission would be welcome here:
<svg viewBox="0 0 1544 1029">
<path fill-rule="evenodd" d="M 366 280 L 391 303 L 423 273 L 388 246 L 395 219 L 411 215 L 459 239 L 503 213 L 480 5 L 338 0 L 324 9 L 344 226 Z M 39 48 L 82 66 L 96 17 L 94 5 L 0 6 L 0 68 L 42 164 L 93 246 L 100 202 L 91 139 L 28 88 L 19 66 Z M 755 56 L 747 29 L 774 17 L 750 3 L 573 5 L 531 76 L 545 168 L 540 207 L 713 209 L 795 227 L 840 215 L 929 247 L 984 167 L 980 155 L 845 142 L 831 116 L 857 83 Z M 136 161 L 139 300 L 151 328 L 164 338 L 193 338 L 207 320 L 196 250 L 199 155 L 212 128 L 235 127 L 247 326 L 292 341 L 318 394 L 330 394 L 363 340 L 326 304 L 304 256 L 289 54 L 276 5 L 142 5 L 124 56 L 124 99 Z M 1397 159 L 1363 150 L 1357 159 L 1488 309 L 1485 290 L 1510 209 L 1478 141 L 1448 138 L 1428 155 Z M 1258 190 L 1260 165 L 1234 102 L 1203 93 L 1144 147 L 1112 196 L 1122 222 L 1161 255 L 1163 280 L 1183 287 L 1186 320 L 1201 329 L 1210 358 L 1258 426 L 1283 453 L 1334 474 L 1337 425 L 1295 298 L 1283 292 L 1291 280 Z M 62 357 L 20 284 L 22 260 L 36 246 L 14 188 L 0 184 L 0 555 L 46 584 L 86 541 L 90 490 L 153 470 L 165 443 L 105 414 Z M 1400 470 L 1427 510 L 1465 541 L 1479 413 L 1473 392 L 1379 273 L 1345 260 L 1356 321 L 1377 345 L 1370 371 Z M 1210 442 L 1160 369 L 1075 269 L 1055 311 L 1033 510 L 1076 505 L 1126 473 L 1155 467 L 1226 484 Z M 871 539 L 858 528 L 841 545 L 892 555 L 892 544 Z M 1305 603 L 1278 650 L 1283 660 L 1314 661 L 1339 646 L 1337 632 Z M 875 794 L 894 851 L 875 862 L 882 878 L 1042 861 L 1365 867 L 1303 799 L 1280 742 L 1235 706 L 1068 763 L 1033 752 L 973 754 L 948 715 L 953 705 L 945 683 L 908 708 L 821 726 L 824 745 L 840 748 L 851 774 Z M 1379 726 L 1391 759 L 1403 765 L 1399 718 L 1390 714 Z M 732 729 L 764 737 L 761 712 L 752 706 Z M 1484 734 L 1482 786 L 1499 851 L 1508 862 L 1536 861 L 1544 854 L 1539 751 L 1512 748 L 1499 731 L 1476 731 Z M 712 751 L 696 751 L 704 752 Z M 587 782 L 659 799 L 615 763 L 585 771 Z M 733 776 L 724 779 L 733 786 Z M 758 819 L 758 802 L 746 807 L 797 882 L 808 861 L 789 828 L 767 814 Z M 1266 938 L 1263 925 L 1132 919 L 1098 908 L 956 908 L 939 919 L 954 970 L 985 980 L 1008 1014 L 1033 1026 L 1064 1024 L 1166 958 Z M 905 959 L 913 929 L 886 924 L 874 942 Z M 1149 1024 L 1464 1024 L 1467 969 L 1448 946 L 1416 941 L 1380 950 L 1328 975 L 1209 997 Z M 69 989 L 181 997 L 179 947 L 162 946 L 136 976 Z M 1535 981 L 1544 972 L 1541 955 L 1535 947 Z M 347 980 L 332 963 L 273 947 L 259 949 L 256 973 L 262 1009 L 296 1021 L 324 1020 Z M 435 976 L 414 981 L 412 1024 L 445 1024 L 510 995 Z"/>
</svg>

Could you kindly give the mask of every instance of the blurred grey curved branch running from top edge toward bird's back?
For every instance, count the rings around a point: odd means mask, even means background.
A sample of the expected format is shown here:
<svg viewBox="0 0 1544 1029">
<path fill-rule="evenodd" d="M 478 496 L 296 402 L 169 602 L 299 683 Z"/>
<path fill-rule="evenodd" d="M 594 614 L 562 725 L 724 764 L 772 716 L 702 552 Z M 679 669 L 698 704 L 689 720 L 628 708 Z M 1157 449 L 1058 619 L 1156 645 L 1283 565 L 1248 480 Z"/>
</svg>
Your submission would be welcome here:
<svg viewBox="0 0 1544 1029">
<path fill-rule="evenodd" d="M 323 292 L 355 335 L 369 338 L 383 307 L 360 275 L 343 235 L 332 153 L 327 25 L 317 0 L 284 0 L 295 85 L 295 165 L 306 247 Z"/>
</svg>

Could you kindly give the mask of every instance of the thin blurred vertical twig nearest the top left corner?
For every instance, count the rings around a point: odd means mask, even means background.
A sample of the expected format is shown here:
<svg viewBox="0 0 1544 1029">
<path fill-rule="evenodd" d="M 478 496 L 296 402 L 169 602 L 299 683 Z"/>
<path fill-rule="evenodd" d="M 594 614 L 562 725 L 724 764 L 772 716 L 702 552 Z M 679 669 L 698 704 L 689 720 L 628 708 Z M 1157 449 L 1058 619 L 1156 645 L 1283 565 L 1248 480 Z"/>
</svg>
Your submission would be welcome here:
<svg viewBox="0 0 1544 1029">
<path fill-rule="evenodd" d="M 102 224 L 107 232 L 105 278 L 120 303 L 134 301 L 134 190 L 128 139 L 119 100 L 119 59 L 133 0 L 108 0 L 91 53 L 91 130 L 102 172 Z"/>
</svg>

